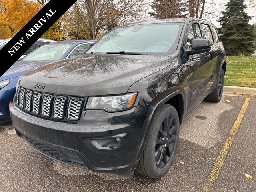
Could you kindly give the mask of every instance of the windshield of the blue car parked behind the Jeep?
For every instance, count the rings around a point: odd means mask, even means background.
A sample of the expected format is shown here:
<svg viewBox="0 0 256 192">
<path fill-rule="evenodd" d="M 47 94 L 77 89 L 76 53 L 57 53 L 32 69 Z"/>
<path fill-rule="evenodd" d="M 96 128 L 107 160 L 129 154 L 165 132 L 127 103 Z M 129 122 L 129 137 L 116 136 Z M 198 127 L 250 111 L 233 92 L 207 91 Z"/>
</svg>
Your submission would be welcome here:
<svg viewBox="0 0 256 192">
<path fill-rule="evenodd" d="M 59 60 L 72 44 L 47 44 L 34 50 L 22 60 L 56 61 Z"/>
</svg>

